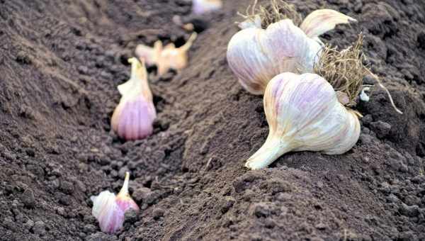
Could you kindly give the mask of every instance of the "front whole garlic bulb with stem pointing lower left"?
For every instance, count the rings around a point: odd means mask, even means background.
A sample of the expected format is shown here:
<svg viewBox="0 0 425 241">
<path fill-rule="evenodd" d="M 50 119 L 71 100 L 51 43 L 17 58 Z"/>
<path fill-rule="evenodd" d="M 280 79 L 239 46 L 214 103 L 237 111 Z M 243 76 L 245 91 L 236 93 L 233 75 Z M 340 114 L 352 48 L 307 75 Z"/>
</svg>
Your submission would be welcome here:
<svg viewBox="0 0 425 241">
<path fill-rule="evenodd" d="M 339 103 L 332 86 L 317 74 L 279 74 L 268 83 L 264 110 L 269 125 L 266 142 L 245 166 L 267 167 L 291 151 L 339 155 L 360 135 L 359 113 Z"/>
</svg>

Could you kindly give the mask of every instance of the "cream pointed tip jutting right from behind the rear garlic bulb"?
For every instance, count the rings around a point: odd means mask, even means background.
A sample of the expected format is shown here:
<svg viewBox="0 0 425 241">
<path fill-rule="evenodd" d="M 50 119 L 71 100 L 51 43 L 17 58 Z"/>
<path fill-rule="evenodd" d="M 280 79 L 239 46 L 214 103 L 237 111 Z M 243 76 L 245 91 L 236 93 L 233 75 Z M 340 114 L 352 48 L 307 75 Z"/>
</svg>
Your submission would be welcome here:
<svg viewBox="0 0 425 241">
<path fill-rule="evenodd" d="M 320 9 L 312 11 L 304 21 L 300 28 L 310 38 L 317 38 L 330 30 L 333 30 L 336 25 L 342 23 L 356 22 L 357 20 L 346 16 L 343 13 L 331 9 Z"/>
</svg>

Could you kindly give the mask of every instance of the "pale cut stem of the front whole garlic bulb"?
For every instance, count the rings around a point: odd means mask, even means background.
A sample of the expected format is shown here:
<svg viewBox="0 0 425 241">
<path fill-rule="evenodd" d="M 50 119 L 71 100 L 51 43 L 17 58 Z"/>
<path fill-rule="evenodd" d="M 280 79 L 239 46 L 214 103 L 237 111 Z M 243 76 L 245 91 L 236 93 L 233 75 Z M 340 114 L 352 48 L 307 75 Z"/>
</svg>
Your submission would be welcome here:
<svg viewBox="0 0 425 241">
<path fill-rule="evenodd" d="M 267 167 L 281 155 L 290 152 L 292 149 L 289 142 L 284 142 L 273 135 L 268 135 L 264 145 L 246 161 L 245 167 L 253 170 Z"/>
</svg>

